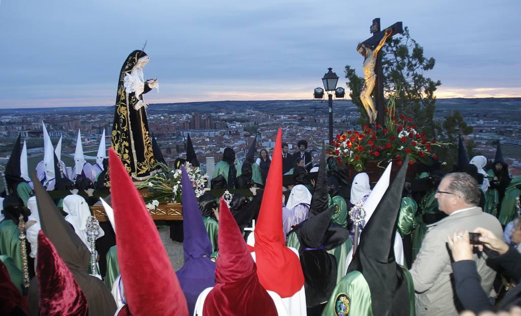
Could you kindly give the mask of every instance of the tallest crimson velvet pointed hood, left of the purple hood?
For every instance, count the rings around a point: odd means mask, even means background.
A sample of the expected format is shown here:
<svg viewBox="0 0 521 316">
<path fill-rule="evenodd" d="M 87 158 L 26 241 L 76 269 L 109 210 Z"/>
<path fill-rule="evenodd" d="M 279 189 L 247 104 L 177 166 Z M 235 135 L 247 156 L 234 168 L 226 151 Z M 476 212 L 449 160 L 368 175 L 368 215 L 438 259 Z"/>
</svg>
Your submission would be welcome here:
<svg viewBox="0 0 521 316">
<path fill-rule="evenodd" d="M 113 148 L 108 151 L 121 279 L 132 315 L 188 315 L 156 226 Z"/>
</svg>

